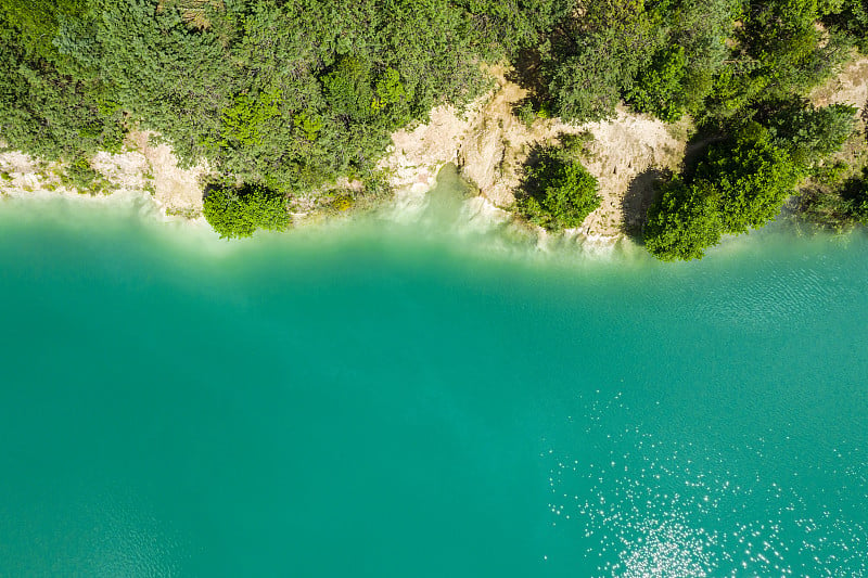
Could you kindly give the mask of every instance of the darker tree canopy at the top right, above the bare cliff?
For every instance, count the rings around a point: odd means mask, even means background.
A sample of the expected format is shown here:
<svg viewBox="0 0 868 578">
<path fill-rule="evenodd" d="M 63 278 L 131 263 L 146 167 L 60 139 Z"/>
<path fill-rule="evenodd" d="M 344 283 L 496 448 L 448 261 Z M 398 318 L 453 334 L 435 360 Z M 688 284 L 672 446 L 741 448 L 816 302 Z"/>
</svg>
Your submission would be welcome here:
<svg viewBox="0 0 868 578">
<path fill-rule="evenodd" d="M 612 116 L 622 99 L 664 120 L 688 113 L 705 124 L 749 117 L 755 106 L 831 75 L 863 42 L 858 23 L 868 23 L 861 0 L 566 4 L 545 41 L 526 48 L 523 62 L 536 65 L 522 73 L 538 107 L 579 121 Z"/>
</svg>

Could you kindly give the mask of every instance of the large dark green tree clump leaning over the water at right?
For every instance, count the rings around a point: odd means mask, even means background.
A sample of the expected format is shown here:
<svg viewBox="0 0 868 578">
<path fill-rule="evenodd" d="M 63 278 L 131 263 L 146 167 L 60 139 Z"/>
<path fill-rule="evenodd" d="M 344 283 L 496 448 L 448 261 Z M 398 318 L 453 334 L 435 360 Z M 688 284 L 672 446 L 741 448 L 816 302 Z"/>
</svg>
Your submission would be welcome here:
<svg viewBox="0 0 868 578">
<path fill-rule="evenodd" d="M 840 150 L 855 127 L 855 110 L 833 104 L 817 108 L 791 102 L 775 108 L 767 125 L 742 125 L 725 142 L 712 145 L 690 175 L 664 183 L 648 213 L 644 242 L 663 259 L 701 258 L 723 234 L 739 234 L 774 219 L 796 184 Z M 830 220 L 854 204 L 831 209 L 833 197 L 808 195 L 804 204 Z M 824 207 L 824 208 L 820 208 Z M 847 213 L 848 211 L 848 213 Z M 713 214 L 713 215 L 712 215 Z"/>
</svg>

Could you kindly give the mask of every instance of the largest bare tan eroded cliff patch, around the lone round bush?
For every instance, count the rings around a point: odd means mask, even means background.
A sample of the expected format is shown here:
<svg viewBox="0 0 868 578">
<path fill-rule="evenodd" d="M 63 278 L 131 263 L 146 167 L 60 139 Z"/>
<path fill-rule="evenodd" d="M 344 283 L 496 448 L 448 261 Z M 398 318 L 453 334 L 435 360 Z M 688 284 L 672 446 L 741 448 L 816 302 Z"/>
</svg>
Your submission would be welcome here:
<svg viewBox="0 0 868 578">
<path fill-rule="evenodd" d="M 382 163 L 393 172 L 393 185 L 426 188 L 443 164 L 454 162 L 484 198 L 506 208 L 514 201 L 522 164 L 535 145 L 552 143 L 563 133 L 585 132 L 592 140 L 584 162 L 600 182 L 603 202 L 577 232 L 617 237 L 635 226 L 647 209 L 653 172 L 677 167 L 686 139 L 673 137 L 660 120 L 626 111 L 604 123 L 571 126 L 537 119 L 526 126 L 513 114 L 526 91 L 508 80 L 503 68 L 492 72 L 496 88 L 465 117 L 451 107 L 438 107 L 430 124 L 393 136 L 395 149 Z"/>
</svg>

